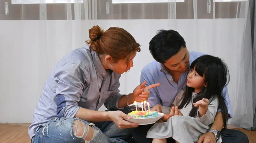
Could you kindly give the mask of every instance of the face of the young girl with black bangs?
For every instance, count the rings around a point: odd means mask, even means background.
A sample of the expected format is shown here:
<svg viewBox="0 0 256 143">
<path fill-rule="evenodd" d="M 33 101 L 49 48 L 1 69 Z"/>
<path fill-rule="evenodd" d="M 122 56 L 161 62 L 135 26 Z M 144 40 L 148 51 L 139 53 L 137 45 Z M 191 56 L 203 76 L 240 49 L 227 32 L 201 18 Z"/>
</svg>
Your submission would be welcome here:
<svg viewBox="0 0 256 143">
<path fill-rule="evenodd" d="M 187 82 L 186 85 L 188 87 L 194 88 L 195 93 L 199 93 L 203 87 L 206 87 L 205 81 L 204 81 L 204 76 L 200 76 L 196 71 L 195 67 L 194 69 L 191 69 L 189 71 L 188 77 L 187 77 Z"/>
</svg>

